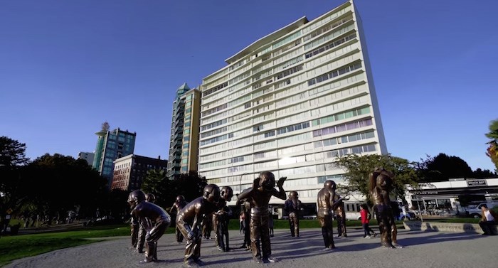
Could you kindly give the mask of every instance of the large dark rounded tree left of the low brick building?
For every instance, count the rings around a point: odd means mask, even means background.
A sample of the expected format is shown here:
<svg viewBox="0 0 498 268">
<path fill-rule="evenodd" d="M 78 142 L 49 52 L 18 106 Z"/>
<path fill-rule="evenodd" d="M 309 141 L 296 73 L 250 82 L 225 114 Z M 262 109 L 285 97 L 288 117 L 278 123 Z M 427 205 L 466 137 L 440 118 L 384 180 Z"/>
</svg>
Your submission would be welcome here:
<svg viewBox="0 0 498 268">
<path fill-rule="evenodd" d="M 43 215 L 65 218 L 68 210 L 80 208 L 81 216 L 90 216 L 105 200 L 105 183 L 83 159 L 45 154 L 28 165 L 23 194 Z"/>
</svg>

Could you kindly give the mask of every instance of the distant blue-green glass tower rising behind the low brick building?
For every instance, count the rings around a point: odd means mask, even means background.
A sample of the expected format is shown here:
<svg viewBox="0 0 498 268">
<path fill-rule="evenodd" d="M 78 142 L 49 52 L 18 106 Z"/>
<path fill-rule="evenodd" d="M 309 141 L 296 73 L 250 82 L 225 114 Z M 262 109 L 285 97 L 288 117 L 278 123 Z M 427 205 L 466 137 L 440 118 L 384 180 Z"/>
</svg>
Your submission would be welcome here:
<svg viewBox="0 0 498 268">
<path fill-rule="evenodd" d="M 92 167 L 99 171 L 100 176 L 107 178 L 107 188 L 110 188 L 114 170 L 113 162 L 123 156 L 133 154 L 137 133 L 117 128 L 112 131 L 102 129 L 95 134 L 98 139 Z"/>
</svg>

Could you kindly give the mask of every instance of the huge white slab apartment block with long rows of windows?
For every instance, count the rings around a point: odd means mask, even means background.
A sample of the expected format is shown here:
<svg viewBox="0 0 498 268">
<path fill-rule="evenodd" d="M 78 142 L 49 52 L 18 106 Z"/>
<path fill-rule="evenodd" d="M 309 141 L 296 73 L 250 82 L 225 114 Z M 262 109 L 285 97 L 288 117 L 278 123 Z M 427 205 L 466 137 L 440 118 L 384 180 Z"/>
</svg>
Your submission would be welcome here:
<svg viewBox="0 0 498 268">
<path fill-rule="evenodd" d="M 339 156 L 387 154 L 353 1 L 302 17 L 226 63 L 201 85 L 198 173 L 208 183 L 238 193 L 272 171 L 314 205 L 324 181 L 344 183 Z"/>
</svg>

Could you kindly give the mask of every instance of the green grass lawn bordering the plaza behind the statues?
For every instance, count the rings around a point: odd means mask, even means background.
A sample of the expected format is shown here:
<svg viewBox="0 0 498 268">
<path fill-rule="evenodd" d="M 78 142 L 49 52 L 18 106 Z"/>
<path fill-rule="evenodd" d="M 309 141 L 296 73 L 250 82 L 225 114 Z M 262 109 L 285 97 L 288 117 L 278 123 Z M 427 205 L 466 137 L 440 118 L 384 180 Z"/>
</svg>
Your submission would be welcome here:
<svg viewBox="0 0 498 268">
<path fill-rule="evenodd" d="M 444 221 L 448 223 L 477 223 L 479 219 L 473 218 L 454 218 L 448 220 L 426 220 L 426 221 Z M 401 221 L 396 222 L 398 228 L 403 226 Z M 372 221 L 376 224 L 376 220 Z M 274 220 L 275 229 L 288 229 L 289 223 L 287 220 Z M 337 221 L 334 221 L 334 227 L 337 226 Z M 349 220 L 346 222 L 349 227 L 361 227 L 359 220 Z M 300 220 L 300 228 L 319 228 L 317 220 Z M 232 219 L 228 225 L 230 230 L 239 230 L 238 220 Z M 21 229 L 22 230 L 22 229 Z M 174 233 L 174 228 L 169 227 L 166 233 Z M 0 238 L 0 267 L 14 259 L 23 257 L 35 256 L 38 254 L 59 250 L 66 247 L 75 247 L 78 245 L 86 245 L 102 240 L 88 238 L 96 237 L 117 237 L 128 236 L 129 225 L 107 225 L 94 227 L 81 227 L 62 232 L 45 232 L 31 235 L 14 235 L 2 236 Z"/>
</svg>

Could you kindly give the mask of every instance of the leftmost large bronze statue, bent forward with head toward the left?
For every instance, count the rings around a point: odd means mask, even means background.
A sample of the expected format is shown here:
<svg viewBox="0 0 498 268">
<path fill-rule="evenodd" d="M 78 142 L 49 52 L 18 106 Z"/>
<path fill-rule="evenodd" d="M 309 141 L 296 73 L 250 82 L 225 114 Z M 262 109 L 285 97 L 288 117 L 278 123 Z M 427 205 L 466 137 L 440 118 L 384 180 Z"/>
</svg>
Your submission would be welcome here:
<svg viewBox="0 0 498 268">
<path fill-rule="evenodd" d="M 143 225 L 146 231 L 147 251 L 145 252 L 145 259 L 141 262 L 156 262 L 157 240 L 161 238 L 166 228 L 171 224 L 171 218 L 159 205 L 146 202 L 145 193 L 141 190 L 129 193 L 128 203 L 132 208 L 132 218 L 138 219 L 140 225 Z M 134 228 L 137 227 L 137 225 L 134 225 Z"/>
</svg>

